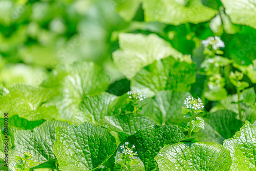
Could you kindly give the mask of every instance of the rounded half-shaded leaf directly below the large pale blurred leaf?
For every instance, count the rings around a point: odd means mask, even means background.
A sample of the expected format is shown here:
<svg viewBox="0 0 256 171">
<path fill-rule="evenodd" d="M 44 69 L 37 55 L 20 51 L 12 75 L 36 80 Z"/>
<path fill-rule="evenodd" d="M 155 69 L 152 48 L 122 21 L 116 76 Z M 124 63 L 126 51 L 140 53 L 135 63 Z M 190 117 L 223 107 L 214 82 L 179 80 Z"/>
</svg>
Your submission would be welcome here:
<svg viewBox="0 0 256 171">
<path fill-rule="evenodd" d="M 132 90 L 154 96 L 161 90 L 187 92 L 196 81 L 196 63 L 176 60 L 173 57 L 155 61 L 141 69 L 131 81 Z"/>
</svg>

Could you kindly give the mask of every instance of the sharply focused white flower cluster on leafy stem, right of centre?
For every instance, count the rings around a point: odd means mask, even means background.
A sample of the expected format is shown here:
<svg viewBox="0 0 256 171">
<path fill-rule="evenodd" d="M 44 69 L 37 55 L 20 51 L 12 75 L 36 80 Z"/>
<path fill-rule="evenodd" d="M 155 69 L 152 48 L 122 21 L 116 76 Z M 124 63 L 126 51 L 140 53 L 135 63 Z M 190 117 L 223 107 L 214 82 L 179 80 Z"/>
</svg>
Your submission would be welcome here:
<svg viewBox="0 0 256 171">
<path fill-rule="evenodd" d="M 186 107 L 182 107 L 182 113 L 184 117 L 189 118 L 189 122 L 182 122 L 179 126 L 188 131 L 187 138 L 191 137 L 192 132 L 198 132 L 201 128 L 204 129 L 204 120 L 201 117 L 197 117 L 197 114 L 203 112 L 200 109 L 203 109 L 202 100 L 198 97 L 198 99 L 194 99 L 193 97 L 188 96 L 186 100 L 184 100 L 184 104 Z"/>
</svg>

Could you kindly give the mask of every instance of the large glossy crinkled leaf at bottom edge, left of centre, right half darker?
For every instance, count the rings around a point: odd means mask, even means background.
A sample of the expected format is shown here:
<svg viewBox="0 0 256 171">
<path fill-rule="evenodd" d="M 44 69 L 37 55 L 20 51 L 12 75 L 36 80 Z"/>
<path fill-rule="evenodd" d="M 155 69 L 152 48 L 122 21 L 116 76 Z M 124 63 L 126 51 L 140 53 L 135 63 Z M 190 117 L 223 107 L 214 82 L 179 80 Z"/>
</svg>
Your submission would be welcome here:
<svg viewBox="0 0 256 171">
<path fill-rule="evenodd" d="M 77 127 L 56 127 L 56 139 L 53 151 L 62 171 L 96 169 L 117 148 L 115 137 L 88 122 Z"/>
</svg>

